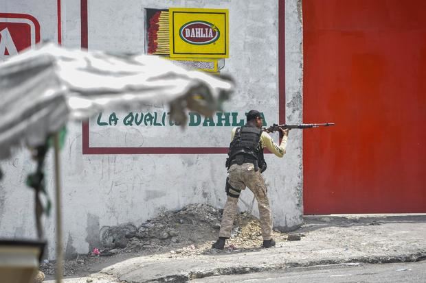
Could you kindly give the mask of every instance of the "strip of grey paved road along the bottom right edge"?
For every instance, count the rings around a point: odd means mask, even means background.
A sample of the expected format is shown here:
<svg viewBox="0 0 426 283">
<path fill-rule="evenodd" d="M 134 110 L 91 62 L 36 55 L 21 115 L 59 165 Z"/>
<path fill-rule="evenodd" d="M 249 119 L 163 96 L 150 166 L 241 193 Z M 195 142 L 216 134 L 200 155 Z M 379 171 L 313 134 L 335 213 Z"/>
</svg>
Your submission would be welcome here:
<svg viewBox="0 0 426 283">
<path fill-rule="evenodd" d="M 212 276 L 191 282 L 426 282 L 426 261 L 388 264 L 334 264 L 243 275 Z"/>
</svg>

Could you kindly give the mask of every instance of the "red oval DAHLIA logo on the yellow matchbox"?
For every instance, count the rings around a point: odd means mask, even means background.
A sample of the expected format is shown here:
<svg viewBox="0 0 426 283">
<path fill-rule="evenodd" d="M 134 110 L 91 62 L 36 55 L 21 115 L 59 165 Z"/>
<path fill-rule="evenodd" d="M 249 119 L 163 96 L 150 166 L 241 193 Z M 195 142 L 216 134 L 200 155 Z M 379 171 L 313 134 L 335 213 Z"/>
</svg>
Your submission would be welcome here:
<svg viewBox="0 0 426 283">
<path fill-rule="evenodd" d="M 179 36 L 191 45 L 208 45 L 218 40 L 221 33 L 212 23 L 192 21 L 179 29 Z"/>
</svg>

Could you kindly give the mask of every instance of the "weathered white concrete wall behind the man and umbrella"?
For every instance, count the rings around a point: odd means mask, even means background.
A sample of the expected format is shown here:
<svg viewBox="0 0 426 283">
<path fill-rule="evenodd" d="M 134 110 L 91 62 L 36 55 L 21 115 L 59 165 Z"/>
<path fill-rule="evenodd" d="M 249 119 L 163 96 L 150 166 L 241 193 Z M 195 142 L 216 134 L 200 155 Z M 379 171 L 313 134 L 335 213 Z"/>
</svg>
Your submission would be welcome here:
<svg viewBox="0 0 426 283">
<path fill-rule="evenodd" d="M 0 0 L 0 12 L 33 14 L 42 38 L 56 40 L 56 0 Z M 52 2 L 52 3 L 50 3 Z M 51 4 L 51 5 L 50 5 Z M 89 1 L 89 49 L 144 51 L 144 8 L 229 9 L 229 58 L 223 73 L 234 76 L 238 88 L 225 111 L 258 109 L 267 123 L 278 121 L 278 0 L 128 0 Z M 302 23 L 297 0 L 286 0 L 286 114 L 287 122 L 302 122 Z M 80 46 L 80 1 L 62 1 L 63 45 Z M 51 9 L 54 9 L 53 12 Z M 44 11 L 47 12 L 44 12 Z M 137 110 L 167 111 L 163 106 Z M 105 112 L 104 116 L 109 114 Z M 232 127 L 100 127 L 91 119 L 92 147 L 227 147 Z M 275 136 L 277 139 L 278 136 Z M 99 229 L 155 217 L 161 210 L 177 210 L 192 203 L 223 207 L 225 154 L 204 155 L 82 155 L 82 130 L 68 126 L 62 151 L 63 223 L 67 255 L 86 253 L 99 245 Z M 290 230 L 302 223 L 302 134 L 291 131 L 283 159 L 266 156 L 273 222 Z M 33 162 L 21 150 L 0 163 L 0 237 L 35 236 L 33 194 L 25 177 Z M 47 162 L 47 186 L 53 193 L 52 156 Z M 240 209 L 257 214 L 249 190 Z M 54 257 L 54 217 L 45 221 L 49 258 Z"/>
</svg>

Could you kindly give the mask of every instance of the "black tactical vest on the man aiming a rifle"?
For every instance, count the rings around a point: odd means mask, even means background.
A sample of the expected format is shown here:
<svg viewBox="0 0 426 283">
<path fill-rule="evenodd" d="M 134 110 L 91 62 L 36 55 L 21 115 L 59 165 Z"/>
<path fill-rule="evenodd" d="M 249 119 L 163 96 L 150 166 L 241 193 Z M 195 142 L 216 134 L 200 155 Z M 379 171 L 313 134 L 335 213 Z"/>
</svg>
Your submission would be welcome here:
<svg viewBox="0 0 426 283">
<path fill-rule="evenodd" d="M 234 139 L 229 145 L 226 167 L 232 164 L 253 163 L 255 170 L 260 167 L 262 172 L 266 169 L 263 158 L 263 149 L 260 147 L 260 136 L 262 130 L 253 125 L 244 125 L 236 129 Z"/>
</svg>

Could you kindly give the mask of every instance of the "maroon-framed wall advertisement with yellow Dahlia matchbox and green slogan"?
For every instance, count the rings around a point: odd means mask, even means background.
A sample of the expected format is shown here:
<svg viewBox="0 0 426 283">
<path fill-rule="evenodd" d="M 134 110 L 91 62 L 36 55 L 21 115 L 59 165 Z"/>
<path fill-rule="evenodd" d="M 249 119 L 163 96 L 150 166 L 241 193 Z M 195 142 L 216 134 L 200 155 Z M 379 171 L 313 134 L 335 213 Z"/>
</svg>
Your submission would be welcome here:
<svg viewBox="0 0 426 283">
<path fill-rule="evenodd" d="M 264 14 L 254 12 L 255 19 L 247 25 L 232 25 L 241 15 L 229 13 L 228 6 L 220 9 L 173 8 L 173 1 L 150 2 L 139 5 L 143 12 L 142 30 L 144 36 L 129 36 L 129 40 L 113 41 L 119 31 L 113 35 L 104 34 L 104 25 L 89 25 L 89 45 L 93 48 L 113 49 L 114 51 L 141 51 L 172 60 L 186 68 L 218 74 L 222 71 L 232 73 L 238 82 L 238 90 L 231 101 L 224 103 L 221 112 L 205 117 L 194 112 L 187 113 L 187 121 L 179 127 L 172 121 L 168 106 L 155 104 L 143 109 L 120 111 L 111 109 L 90 119 L 82 127 L 83 153 L 87 154 L 170 154 L 170 153 L 226 153 L 229 146 L 232 127 L 245 124 L 245 112 L 258 108 L 262 99 L 275 99 L 277 94 L 276 56 L 270 56 L 267 50 L 278 46 L 276 36 L 263 37 L 262 31 L 276 27 L 276 20 L 265 19 Z M 112 3 L 112 2 L 111 2 Z M 176 4 L 176 3 L 175 3 Z M 91 14 L 94 19 L 103 19 L 109 14 L 100 3 L 93 2 L 104 14 Z M 206 4 L 207 5 L 207 4 Z M 209 5 L 218 6 L 218 3 Z M 229 5 L 231 7 L 232 5 Z M 241 5 L 243 14 L 250 8 Z M 245 12 L 244 12 L 245 11 Z M 132 14 L 133 10 L 128 9 Z M 233 20 L 229 20 L 229 17 Z M 139 19 L 139 18 L 138 18 Z M 96 21 L 93 20 L 93 23 Z M 259 27 L 262 27 L 260 28 Z M 128 23 L 123 28 L 140 32 L 141 25 Z M 86 30 L 86 29 L 83 29 Z M 235 43 L 235 53 L 229 53 L 229 34 Z M 84 35 L 83 35 L 83 38 Z M 131 39 L 133 38 L 133 39 Z M 131 39 L 131 40 L 130 40 Z M 138 39 L 142 39 L 138 41 Z M 93 42 L 93 43 L 91 43 Z M 111 47 L 113 45 L 113 47 Z M 85 45 L 86 46 L 86 45 Z M 258 53 L 261 48 L 265 53 Z M 256 68 L 247 67 L 254 66 Z M 226 69 L 225 69 L 226 68 Z M 234 98 L 235 97 L 235 98 Z M 258 108 L 265 112 L 268 121 L 277 122 L 278 101 L 266 103 Z M 169 138 L 173 137 L 173 138 Z"/>
</svg>

